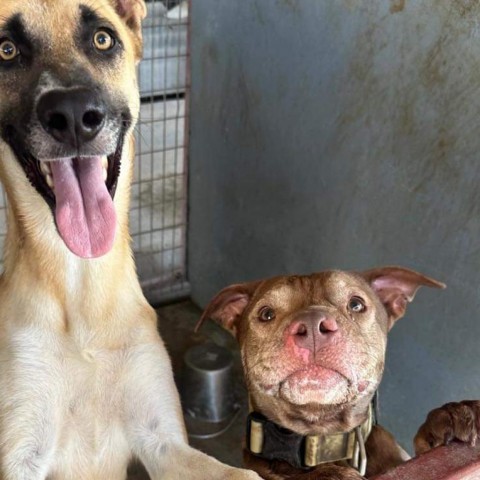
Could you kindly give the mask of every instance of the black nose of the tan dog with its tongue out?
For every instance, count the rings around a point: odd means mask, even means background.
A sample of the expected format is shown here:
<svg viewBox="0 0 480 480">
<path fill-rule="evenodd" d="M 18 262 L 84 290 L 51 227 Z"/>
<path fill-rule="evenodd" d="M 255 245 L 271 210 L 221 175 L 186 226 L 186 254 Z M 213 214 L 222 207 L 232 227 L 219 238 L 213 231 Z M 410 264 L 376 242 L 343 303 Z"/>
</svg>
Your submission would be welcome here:
<svg viewBox="0 0 480 480">
<path fill-rule="evenodd" d="M 78 148 L 100 132 L 106 108 L 94 91 L 87 88 L 51 90 L 37 104 L 42 127 L 55 140 Z"/>
</svg>

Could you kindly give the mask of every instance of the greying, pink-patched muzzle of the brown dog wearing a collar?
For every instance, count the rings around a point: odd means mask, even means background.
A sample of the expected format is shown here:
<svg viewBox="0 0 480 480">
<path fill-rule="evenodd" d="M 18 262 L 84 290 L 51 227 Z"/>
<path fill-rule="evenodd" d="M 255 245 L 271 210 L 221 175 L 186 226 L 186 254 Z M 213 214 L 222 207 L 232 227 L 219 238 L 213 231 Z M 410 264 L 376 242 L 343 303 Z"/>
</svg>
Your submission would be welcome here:
<svg viewBox="0 0 480 480">
<path fill-rule="evenodd" d="M 295 405 L 340 404 L 377 386 L 383 362 L 372 364 L 369 352 L 376 349 L 382 359 L 383 342 L 364 342 L 352 319 L 310 305 L 285 324 L 280 348 L 274 339 L 264 344 L 265 351 L 245 346 L 248 377 L 259 392 Z"/>
</svg>

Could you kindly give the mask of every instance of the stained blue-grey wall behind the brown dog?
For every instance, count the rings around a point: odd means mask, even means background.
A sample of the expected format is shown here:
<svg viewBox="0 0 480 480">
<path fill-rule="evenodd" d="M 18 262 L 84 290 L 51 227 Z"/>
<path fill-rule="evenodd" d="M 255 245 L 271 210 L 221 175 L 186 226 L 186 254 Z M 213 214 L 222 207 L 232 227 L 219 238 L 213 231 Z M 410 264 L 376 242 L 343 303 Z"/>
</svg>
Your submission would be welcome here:
<svg viewBox="0 0 480 480">
<path fill-rule="evenodd" d="M 480 398 L 480 6 L 193 1 L 189 277 L 400 264 L 422 289 L 390 336 L 381 422 L 411 448 Z"/>
</svg>

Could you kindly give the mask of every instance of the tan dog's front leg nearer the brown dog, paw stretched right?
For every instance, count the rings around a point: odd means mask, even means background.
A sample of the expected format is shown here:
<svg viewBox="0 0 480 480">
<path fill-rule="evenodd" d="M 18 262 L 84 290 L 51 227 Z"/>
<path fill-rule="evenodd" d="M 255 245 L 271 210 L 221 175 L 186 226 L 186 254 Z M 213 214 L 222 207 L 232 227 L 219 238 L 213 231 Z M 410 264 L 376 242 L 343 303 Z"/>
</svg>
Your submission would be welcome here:
<svg viewBox="0 0 480 480">
<path fill-rule="evenodd" d="M 258 480 L 187 443 L 170 359 L 161 343 L 130 355 L 126 397 L 128 440 L 151 480 Z"/>
</svg>

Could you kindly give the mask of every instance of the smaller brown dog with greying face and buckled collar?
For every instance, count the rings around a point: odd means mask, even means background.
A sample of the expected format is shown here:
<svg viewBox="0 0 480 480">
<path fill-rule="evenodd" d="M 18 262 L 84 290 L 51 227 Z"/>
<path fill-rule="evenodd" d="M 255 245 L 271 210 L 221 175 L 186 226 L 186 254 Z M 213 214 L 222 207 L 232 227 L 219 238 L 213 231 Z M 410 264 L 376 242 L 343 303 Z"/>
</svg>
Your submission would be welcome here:
<svg viewBox="0 0 480 480">
<path fill-rule="evenodd" d="M 387 333 L 422 285 L 444 288 L 385 267 L 232 285 L 211 301 L 200 323 L 212 318 L 240 343 L 249 468 L 272 480 L 356 479 L 408 458 L 375 425 L 372 399 Z"/>
</svg>

